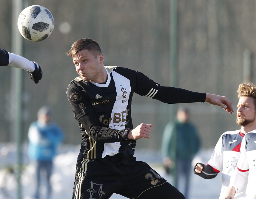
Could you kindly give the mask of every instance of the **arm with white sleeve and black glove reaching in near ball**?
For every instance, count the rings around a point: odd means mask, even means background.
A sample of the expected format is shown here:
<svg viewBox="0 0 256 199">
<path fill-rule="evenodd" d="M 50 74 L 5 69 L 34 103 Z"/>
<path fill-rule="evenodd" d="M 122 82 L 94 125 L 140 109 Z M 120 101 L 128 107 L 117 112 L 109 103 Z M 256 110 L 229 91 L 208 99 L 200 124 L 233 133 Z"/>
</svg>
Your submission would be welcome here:
<svg viewBox="0 0 256 199">
<path fill-rule="evenodd" d="M 20 55 L 15 55 L 14 53 L 7 52 L 5 49 L 0 48 L 0 66 L 9 65 L 28 71 L 30 78 L 36 84 L 42 78 L 43 72 L 37 62 L 29 61 Z"/>
</svg>

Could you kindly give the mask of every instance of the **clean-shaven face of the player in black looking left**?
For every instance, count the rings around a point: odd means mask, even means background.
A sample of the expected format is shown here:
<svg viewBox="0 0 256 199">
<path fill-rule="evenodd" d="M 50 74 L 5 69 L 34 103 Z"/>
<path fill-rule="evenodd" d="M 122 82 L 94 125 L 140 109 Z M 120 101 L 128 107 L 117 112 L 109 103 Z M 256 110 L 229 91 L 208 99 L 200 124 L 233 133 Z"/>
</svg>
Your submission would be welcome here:
<svg viewBox="0 0 256 199">
<path fill-rule="evenodd" d="M 101 79 L 102 75 L 104 76 L 106 71 L 104 65 L 102 68 L 102 54 L 97 55 L 95 58 L 94 54 L 89 50 L 81 50 L 75 57 L 73 57 L 73 62 L 77 73 L 84 81 L 103 83 L 101 82 Z"/>
</svg>

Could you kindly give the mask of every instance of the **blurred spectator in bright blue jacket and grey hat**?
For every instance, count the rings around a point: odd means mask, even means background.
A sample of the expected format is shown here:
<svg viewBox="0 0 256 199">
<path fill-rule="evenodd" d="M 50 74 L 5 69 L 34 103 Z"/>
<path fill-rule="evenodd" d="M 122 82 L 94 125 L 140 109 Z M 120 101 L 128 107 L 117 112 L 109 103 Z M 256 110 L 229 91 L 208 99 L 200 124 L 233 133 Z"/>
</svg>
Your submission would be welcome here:
<svg viewBox="0 0 256 199">
<path fill-rule="evenodd" d="M 46 171 L 47 199 L 50 198 L 52 187 L 50 176 L 53 170 L 53 157 L 56 155 L 57 146 L 63 140 L 62 129 L 52 122 L 52 113 L 49 107 L 43 106 L 38 110 L 38 120 L 29 126 L 28 156 L 35 163 L 36 192 L 35 198 L 40 198 L 41 171 Z"/>
</svg>

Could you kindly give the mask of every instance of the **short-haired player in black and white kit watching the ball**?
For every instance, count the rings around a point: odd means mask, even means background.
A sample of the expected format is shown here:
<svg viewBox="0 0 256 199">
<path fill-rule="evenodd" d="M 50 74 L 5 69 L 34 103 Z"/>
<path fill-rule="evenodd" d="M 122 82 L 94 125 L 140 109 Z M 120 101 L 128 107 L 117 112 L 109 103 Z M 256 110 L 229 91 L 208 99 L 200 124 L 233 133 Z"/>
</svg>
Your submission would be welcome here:
<svg viewBox="0 0 256 199">
<path fill-rule="evenodd" d="M 136 140 L 150 138 L 152 127 L 141 123 L 133 128 L 133 94 L 164 103 L 207 101 L 230 113 L 232 103 L 223 96 L 161 86 L 135 70 L 104 66 L 100 46 L 92 39 L 77 40 L 66 54 L 79 74 L 68 86 L 67 96 L 82 136 L 73 199 L 110 198 L 113 193 L 138 199 L 184 199 L 147 163 L 133 156 Z"/>
</svg>

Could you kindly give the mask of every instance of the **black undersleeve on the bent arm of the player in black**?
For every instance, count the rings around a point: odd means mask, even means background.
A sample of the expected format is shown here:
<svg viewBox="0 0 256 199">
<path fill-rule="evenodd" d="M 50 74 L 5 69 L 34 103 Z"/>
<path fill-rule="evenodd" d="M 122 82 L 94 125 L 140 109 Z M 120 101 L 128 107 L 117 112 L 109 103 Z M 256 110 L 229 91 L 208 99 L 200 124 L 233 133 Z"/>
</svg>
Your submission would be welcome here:
<svg viewBox="0 0 256 199">
<path fill-rule="evenodd" d="M 110 129 L 99 125 L 96 114 L 90 112 L 79 118 L 81 127 L 86 130 L 94 141 L 99 142 L 119 142 L 128 139 L 127 129 Z"/>
</svg>

